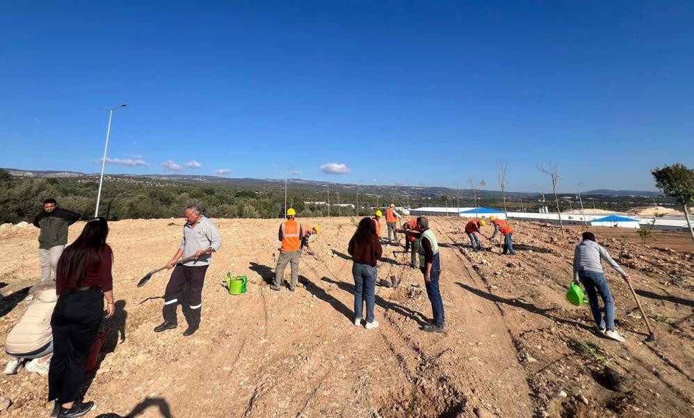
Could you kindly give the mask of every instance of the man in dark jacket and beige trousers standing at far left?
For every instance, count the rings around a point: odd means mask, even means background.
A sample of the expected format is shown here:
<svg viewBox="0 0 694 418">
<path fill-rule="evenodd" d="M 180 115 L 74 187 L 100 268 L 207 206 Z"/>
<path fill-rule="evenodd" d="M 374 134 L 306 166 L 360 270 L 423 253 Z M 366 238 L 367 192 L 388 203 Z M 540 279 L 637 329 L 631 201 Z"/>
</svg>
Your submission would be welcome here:
<svg viewBox="0 0 694 418">
<path fill-rule="evenodd" d="M 49 198 L 43 201 L 43 211 L 34 218 L 38 235 L 38 258 L 41 263 L 41 280 L 55 280 L 58 259 L 67 244 L 67 227 L 79 220 L 79 214 L 58 208 L 58 202 Z"/>
</svg>

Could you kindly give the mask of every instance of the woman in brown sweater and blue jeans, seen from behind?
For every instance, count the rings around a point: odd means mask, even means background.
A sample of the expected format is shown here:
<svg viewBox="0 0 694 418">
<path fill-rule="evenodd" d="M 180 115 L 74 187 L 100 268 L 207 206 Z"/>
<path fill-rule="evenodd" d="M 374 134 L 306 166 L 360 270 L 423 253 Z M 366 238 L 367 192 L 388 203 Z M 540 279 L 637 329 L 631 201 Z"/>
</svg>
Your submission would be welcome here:
<svg viewBox="0 0 694 418">
<path fill-rule="evenodd" d="M 373 317 L 373 304 L 376 301 L 376 262 L 383 254 L 376 235 L 376 225 L 371 218 L 360 220 L 357 232 L 349 241 L 347 248 L 352 256 L 352 275 L 354 277 L 354 325 L 362 325 L 362 308 L 366 302 L 366 329 L 378 327 Z"/>
</svg>

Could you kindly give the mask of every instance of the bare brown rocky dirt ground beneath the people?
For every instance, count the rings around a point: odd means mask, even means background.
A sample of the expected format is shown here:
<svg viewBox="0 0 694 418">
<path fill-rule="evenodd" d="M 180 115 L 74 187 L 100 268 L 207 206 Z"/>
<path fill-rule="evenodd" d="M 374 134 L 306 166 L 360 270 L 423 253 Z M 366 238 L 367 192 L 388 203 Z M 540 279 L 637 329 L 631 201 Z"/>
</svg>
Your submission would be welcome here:
<svg viewBox="0 0 694 418">
<path fill-rule="evenodd" d="M 587 305 L 564 299 L 581 230 L 561 241 L 558 227 L 512 223 L 517 255 L 508 257 L 497 242 L 471 252 L 463 220 L 431 221 L 442 247 L 443 334 L 421 331 L 431 316 L 422 275 L 396 246 L 384 246 L 378 267 L 379 278 L 400 284 L 377 287 L 380 327 L 353 325 L 350 218 L 305 220 L 321 234 L 315 257 L 302 256 L 296 292 L 266 284 L 279 220 L 219 219 L 223 245 L 193 337 L 182 335 L 181 310 L 177 330 L 152 331 L 168 273 L 136 288 L 177 250 L 183 221 L 111 223 L 117 313 L 104 322 L 111 332 L 84 385 L 96 403 L 87 417 L 694 417 L 691 244 L 642 246 L 596 231 L 631 275 L 656 334 L 643 342 L 636 303 L 608 271 L 621 344 L 592 332 Z M 0 344 L 38 278 L 37 237 L 31 226 L 0 230 Z M 229 295 L 227 272 L 248 275 L 248 293 Z M 26 371 L 0 376 L 0 401 L 12 402 L 0 415 L 47 417 L 46 382 Z"/>
</svg>

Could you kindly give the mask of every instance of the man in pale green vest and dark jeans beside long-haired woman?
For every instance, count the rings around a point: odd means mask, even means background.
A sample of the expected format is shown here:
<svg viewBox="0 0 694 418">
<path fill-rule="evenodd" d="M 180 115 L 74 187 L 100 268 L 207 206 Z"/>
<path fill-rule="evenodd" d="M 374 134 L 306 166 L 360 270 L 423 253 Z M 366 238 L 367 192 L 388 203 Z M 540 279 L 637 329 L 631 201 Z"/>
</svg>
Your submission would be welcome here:
<svg viewBox="0 0 694 418">
<path fill-rule="evenodd" d="M 441 275 L 441 259 L 439 257 L 439 243 L 434 232 L 429 229 L 429 220 L 424 216 L 417 218 L 417 232 L 400 230 L 407 236 L 417 239 L 417 252 L 419 253 L 419 270 L 424 275 L 426 295 L 431 302 L 431 311 L 434 321 L 422 328 L 426 332 L 444 332 L 446 325 L 444 319 L 444 303 L 439 291 L 439 275 Z"/>
</svg>

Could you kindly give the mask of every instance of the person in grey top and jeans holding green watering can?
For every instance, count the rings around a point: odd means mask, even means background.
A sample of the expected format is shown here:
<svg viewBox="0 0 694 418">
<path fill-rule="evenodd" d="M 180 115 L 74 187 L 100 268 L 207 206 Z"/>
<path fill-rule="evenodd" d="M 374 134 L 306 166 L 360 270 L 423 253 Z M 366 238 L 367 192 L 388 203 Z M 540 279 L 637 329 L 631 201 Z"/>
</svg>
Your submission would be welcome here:
<svg viewBox="0 0 694 418">
<path fill-rule="evenodd" d="M 583 232 L 583 241 L 574 250 L 574 281 L 580 279 L 583 287 L 586 288 L 590 311 L 593 319 L 595 319 L 597 332 L 605 337 L 624 342 L 624 337 L 615 330 L 615 300 L 612 298 L 607 278 L 602 264 L 600 264 L 601 259 L 605 260 L 617 273 L 622 275 L 625 282 L 629 283 L 629 275 L 624 273 L 624 270 L 610 257 L 607 250 L 595 242 L 595 234 Z M 598 294 L 605 305 L 604 318 L 597 302 Z"/>
</svg>

